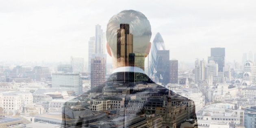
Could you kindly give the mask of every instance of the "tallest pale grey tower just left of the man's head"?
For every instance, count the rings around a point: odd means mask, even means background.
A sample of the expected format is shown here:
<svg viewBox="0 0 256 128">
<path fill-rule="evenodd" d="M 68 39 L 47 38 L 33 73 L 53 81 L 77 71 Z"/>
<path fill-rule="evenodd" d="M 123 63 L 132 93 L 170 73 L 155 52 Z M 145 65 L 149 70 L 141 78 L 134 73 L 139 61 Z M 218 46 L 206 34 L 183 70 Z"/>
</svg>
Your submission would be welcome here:
<svg viewBox="0 0 256 128">
<path fill-rule="evenodd" d="M 101 26 L 97 24 L 95 26 L 95 54 L 105 54 L 105 41 L 105 33 L 103 33 Z"/>
</svg>

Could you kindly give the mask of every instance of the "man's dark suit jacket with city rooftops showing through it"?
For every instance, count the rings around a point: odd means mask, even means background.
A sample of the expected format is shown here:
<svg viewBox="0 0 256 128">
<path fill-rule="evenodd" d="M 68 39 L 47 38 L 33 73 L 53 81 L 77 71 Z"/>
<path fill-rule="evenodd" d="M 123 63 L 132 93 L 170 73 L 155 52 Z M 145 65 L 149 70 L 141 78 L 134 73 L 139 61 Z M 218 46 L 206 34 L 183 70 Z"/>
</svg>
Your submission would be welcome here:
<svg viewBox="0 0 256 128">
<path fill-rule="evenodd" d="M 137 72 L 111 74 L 102 85 L 66 102 L 63 125 L 76 127 L 179 127 L 196 120 L 192 100 Z M 140 124 L 141 123 L 141 124 Z"/>
</svg>

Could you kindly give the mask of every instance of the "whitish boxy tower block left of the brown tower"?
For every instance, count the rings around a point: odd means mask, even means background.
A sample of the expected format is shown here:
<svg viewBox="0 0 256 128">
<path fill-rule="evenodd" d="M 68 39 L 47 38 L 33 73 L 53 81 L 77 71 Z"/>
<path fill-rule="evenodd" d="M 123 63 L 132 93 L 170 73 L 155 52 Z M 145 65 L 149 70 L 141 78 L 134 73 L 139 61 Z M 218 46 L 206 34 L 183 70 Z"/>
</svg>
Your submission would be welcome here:
<svg viewBox="0 0 256 128">
<path fill-rule="evenodd" d="M 71 56 L 71 65 L 74 73 L 84 72 L 84 59 Z"/>
</svg>

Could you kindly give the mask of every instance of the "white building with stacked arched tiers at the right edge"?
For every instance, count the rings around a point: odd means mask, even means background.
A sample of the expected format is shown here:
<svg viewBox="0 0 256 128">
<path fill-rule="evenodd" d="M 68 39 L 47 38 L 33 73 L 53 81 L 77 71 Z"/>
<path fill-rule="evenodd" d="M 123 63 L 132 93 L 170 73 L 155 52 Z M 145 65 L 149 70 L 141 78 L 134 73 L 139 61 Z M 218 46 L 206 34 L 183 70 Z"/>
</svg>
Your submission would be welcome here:
<svg viewBox="0 0 256 128">
<path fill-rule="evenodd" d="M 245 61 L 243 68 L 243 82 L 244 86 L 253 86 L 256 83 L 256 66 L 252 61 Z"/>
</svg>

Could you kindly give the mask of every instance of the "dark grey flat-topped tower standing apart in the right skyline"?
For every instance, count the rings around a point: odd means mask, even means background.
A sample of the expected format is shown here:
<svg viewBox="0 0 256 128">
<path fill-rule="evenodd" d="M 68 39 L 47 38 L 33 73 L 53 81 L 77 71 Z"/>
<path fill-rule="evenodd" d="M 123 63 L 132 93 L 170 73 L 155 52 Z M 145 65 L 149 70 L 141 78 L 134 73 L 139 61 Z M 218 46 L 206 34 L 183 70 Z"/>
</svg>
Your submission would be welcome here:
<svg viewBox="0 0 256 128">
<path fill-rule="evenodd" d="M 209 61 L 215 61 L 218 64 L 218 72 L 223 72 L 225 66 L 225 48 L 210 48 Z"/>
</svg>

